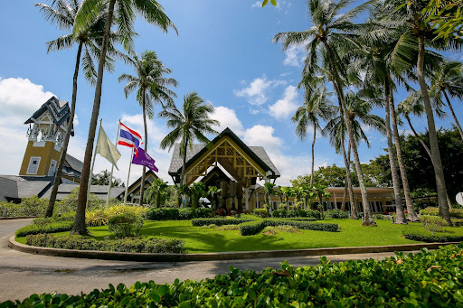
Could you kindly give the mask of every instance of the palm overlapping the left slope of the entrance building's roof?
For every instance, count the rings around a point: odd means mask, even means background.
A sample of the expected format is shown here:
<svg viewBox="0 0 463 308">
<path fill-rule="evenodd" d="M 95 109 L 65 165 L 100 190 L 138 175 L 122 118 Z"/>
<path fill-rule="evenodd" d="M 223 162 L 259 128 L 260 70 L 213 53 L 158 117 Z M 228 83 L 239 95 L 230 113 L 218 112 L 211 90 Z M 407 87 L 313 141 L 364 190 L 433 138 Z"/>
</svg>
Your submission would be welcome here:
<svg viewBox="0 0 463 308">
<path fill-rule="evenodd" d="M 180 141 L 180 155 L 183 157 L 182 173 L 180 175 L 180 185 L 184 185 L 184 172 L 186 164 L 186 151 L 188 146 L 192 148 L 194 140 L 202 144 L 209 143 L 206 134 L 217 135 L 218 132 L 213 126 L 219 126 L 220 122 L 213 120 L 210 115 L 213 113 L 212 104 L 204 104 L 203 98 L 198 93 L 192 92 L 184 96 L 182 111 L 175 105 L 167 106 L 159 113 L 159 117 L 167 119 L 167 127 L 173 130 L 165 135 L 161 141 L 161 149 L 168 148 L 169 151 L 177 141 Z"/>
</svg>

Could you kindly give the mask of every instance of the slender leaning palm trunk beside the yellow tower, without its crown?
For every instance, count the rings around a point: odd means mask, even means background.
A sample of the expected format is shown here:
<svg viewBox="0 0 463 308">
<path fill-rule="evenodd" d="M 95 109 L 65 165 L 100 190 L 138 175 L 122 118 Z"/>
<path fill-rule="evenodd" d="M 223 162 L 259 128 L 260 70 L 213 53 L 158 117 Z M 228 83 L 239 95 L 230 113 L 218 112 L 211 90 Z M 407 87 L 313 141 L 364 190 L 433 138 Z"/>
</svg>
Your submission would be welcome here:
<svg viewBox="0 0 463 308">
<path fill-rule="evenodd" d="M 62 151 L 60 156 L 60 162 L 54 175 L 52 194 L 50 195 L 50 201 L 48 201 L 48 208 L 45 212 L 45 218 L 52 217 L 54 202 L 56 201 L 56 195 L 58 194 L 58 187 L 61 183 L 62 167 L 66 161 L 66 153 L 68 152 L 69 139 L 71 137 L 71 130 L 74 123 L 74 116 L 76 114 L 76 100 L 77 100 L 77 78 L 79 76 L 80 68 L 80 55 L 82 53 L 83 43 L 79 42 L 79 48 L 77 49 L 76 67 L 74 69 L 74 77 L 72 79 L 72 101 L 71 101 L 71 115 L 69 116 L 68 126 L 66 127 L 66 135 L 64 135 L 64 142 L 62 144 Z"/>
</svg>

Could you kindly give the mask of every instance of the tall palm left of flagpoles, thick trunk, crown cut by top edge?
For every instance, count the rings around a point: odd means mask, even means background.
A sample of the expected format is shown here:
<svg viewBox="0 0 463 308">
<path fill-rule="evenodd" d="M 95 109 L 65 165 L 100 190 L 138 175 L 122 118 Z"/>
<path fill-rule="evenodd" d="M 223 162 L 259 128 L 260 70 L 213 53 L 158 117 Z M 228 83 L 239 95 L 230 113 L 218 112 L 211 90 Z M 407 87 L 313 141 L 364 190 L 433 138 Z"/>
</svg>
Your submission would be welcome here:
<svg viewBox="0 0 463 308">
<path fill-rule="evenodd" d="M 105 23 L 103 42 L 99 53 L 99 65 L 97 73 L 97 82 L 95 89 L 95 98 L 93 100 L 93 108 L 90 117 L 89 135 L 85 148 L 83 159 L 82 173 L 80 177 L 79 199 L 77 201 L 76 217 L 72 227 L 72 234 L 86 234 L 85 226 L 85 208 L 87 203 L 87 190 L 90 178 L 90 163 L 93 154 L 93 143 L 95 141 L 95 132 L 97 131 L 97 122 L 99 117 L 99 105 L 101 103 L 101 88 L 103 85 L 103 68 L 106 62 L 106 54 L 109 47 L 109 34 L 111 25 L 116 22 L 118 24 L 118 32 L 121 35 L 124 48 L 130 53 L 132 51 L 136 13 L 142 15 L 148 23 L 153 23 L 165 33 L 169 27 L 174 28 L 175 25 L 169 17 L 164 13 L 164 8 L 159 5 L 156 0 L 109 0 L 108 10 L 106 10 L 107 1 L 105 0 L 84 0 L 80 6 L 80 10 L 76 15 L 76 23 L 74 33 L 85 29 L 96 17 L 102 12 L 108 12 Z M 116 12 L 115 12 L 116 7 Z"/>
</svg>

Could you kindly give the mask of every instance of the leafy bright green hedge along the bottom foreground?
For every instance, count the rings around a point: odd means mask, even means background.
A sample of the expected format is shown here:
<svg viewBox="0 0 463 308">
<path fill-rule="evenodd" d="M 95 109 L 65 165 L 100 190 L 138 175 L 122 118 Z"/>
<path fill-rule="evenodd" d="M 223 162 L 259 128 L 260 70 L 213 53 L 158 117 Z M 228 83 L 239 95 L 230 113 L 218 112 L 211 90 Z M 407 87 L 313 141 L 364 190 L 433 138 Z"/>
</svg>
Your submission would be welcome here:
<svg viewBox="0 0 463 308">
<path fill-rule="evenodd" d="M 150 281 L 126 287 L 109 285 L 90 294 L 32 294 L 0 307 L 461 307 L 463 245 L 396 253 L 378 261 L 349 260 L 261 273 L 241 271 L 202 281 L 175 279 L 172 285 Z"/>
</svg>

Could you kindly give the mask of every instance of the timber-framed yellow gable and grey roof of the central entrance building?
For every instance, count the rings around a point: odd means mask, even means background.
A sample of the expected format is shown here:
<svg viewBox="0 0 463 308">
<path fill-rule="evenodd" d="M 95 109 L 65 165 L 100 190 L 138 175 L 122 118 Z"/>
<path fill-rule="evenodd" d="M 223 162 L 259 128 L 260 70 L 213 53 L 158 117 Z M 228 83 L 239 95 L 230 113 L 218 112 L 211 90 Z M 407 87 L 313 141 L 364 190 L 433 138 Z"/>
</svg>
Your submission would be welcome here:
<svg viewBox="0 0 463 308">
<path fill-rule="evenodd" d="M 169 174 L 175 183 L 180 182 L 183 157 L 180 144 L 176 144 Z M 249 188 L 253 178 L 277 179 L 280 174 L 262 146 L 245 145 L 230 128 L 225 128 L 208 145 L 192 145 L 186 149 L 185 184 L 191 185 L 206 176 L 213 168 L 222 166 L 236 182 Z"/>
</svg>

